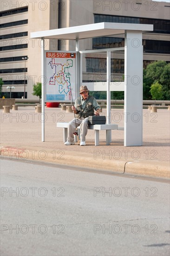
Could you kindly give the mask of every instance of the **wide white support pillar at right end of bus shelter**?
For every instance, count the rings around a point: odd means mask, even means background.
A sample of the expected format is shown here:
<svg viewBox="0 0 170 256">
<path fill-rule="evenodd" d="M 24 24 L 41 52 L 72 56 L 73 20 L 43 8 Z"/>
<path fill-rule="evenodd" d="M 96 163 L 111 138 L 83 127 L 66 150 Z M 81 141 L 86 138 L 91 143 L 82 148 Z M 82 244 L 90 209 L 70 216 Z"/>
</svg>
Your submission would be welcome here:
<svg viewBox="0 0 170 256">
<path fill-rule="evenodd" d="M 127 30 L 124 48 L 124 146 L 143 144 L 142 101 L 142 31 Z"/>
</svg>

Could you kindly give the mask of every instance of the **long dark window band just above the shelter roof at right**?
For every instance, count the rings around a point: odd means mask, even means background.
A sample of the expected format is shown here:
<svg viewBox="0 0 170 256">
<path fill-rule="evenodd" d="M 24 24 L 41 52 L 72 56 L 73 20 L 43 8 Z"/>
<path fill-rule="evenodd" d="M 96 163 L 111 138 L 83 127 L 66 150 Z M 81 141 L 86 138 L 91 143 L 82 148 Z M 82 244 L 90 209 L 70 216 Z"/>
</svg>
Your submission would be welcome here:
<svg viewBox="0 0 170 256">
<path fill-rule="evenodd" d="M 170 20 L 94 14 L 94 23 L 98 22 L 153 24 L 154 30 L 150 33 L 170 34 Z"/>
</svg>

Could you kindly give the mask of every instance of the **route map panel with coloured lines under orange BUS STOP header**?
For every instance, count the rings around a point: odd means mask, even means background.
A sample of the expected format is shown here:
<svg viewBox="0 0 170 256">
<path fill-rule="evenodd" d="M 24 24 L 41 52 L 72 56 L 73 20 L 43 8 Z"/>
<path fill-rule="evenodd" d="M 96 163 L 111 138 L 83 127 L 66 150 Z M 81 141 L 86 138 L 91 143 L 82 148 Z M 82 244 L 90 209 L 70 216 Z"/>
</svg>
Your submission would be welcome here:
<svg viewBox="0 0 170 256">
<path fill-rule="evenodd" d="M 72 101 L 75 83 L 76 54 L 46 52 L 46 101 Z"/>
</svg>

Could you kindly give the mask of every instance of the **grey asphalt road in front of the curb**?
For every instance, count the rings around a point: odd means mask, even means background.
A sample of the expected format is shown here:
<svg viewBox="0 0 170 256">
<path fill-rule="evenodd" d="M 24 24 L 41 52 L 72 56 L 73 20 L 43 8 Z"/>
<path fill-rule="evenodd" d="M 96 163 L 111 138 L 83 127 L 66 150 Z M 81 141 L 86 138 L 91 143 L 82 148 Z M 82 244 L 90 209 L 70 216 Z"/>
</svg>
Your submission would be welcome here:
<svg viewBox="0 0 170 256">
<path fill-rule="evenodd" d="M 167 180 L 0 160 L 1 256 L 166 256 Z"/>
</svg>

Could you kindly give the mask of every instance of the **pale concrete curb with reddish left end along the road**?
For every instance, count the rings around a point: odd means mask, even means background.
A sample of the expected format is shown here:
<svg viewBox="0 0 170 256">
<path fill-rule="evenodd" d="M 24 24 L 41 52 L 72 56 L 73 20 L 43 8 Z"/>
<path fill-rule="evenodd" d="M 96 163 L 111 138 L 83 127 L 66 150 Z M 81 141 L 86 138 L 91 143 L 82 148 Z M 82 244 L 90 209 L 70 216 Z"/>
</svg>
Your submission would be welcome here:
<svg viewBox="0 0 170 256">
<path fill-rule="evenodd" d="M 65 152 L 67 154 L 65 154 Z M 78 155 L 77 151 L 58 150 L 54 152 L 54 150 L 52 151 L 51 149 L 39 150 L 39 148 L 14 148 L 10 146 L 1 147 L 0 155 L 1 159 L 3 159 L 4 156 L 7 156 L 10 159 L 29 159 L 41 162 L 55 162 L 56 164 L 94 168 L 122 174 L 144 175 L 165 179 L 170 178 L 170 163 L 157 160 L 120 161 L 102 158 L 95 160 L 92 154 L 85 153 L 83 156 L 81 156 Z"/>
</svg>

